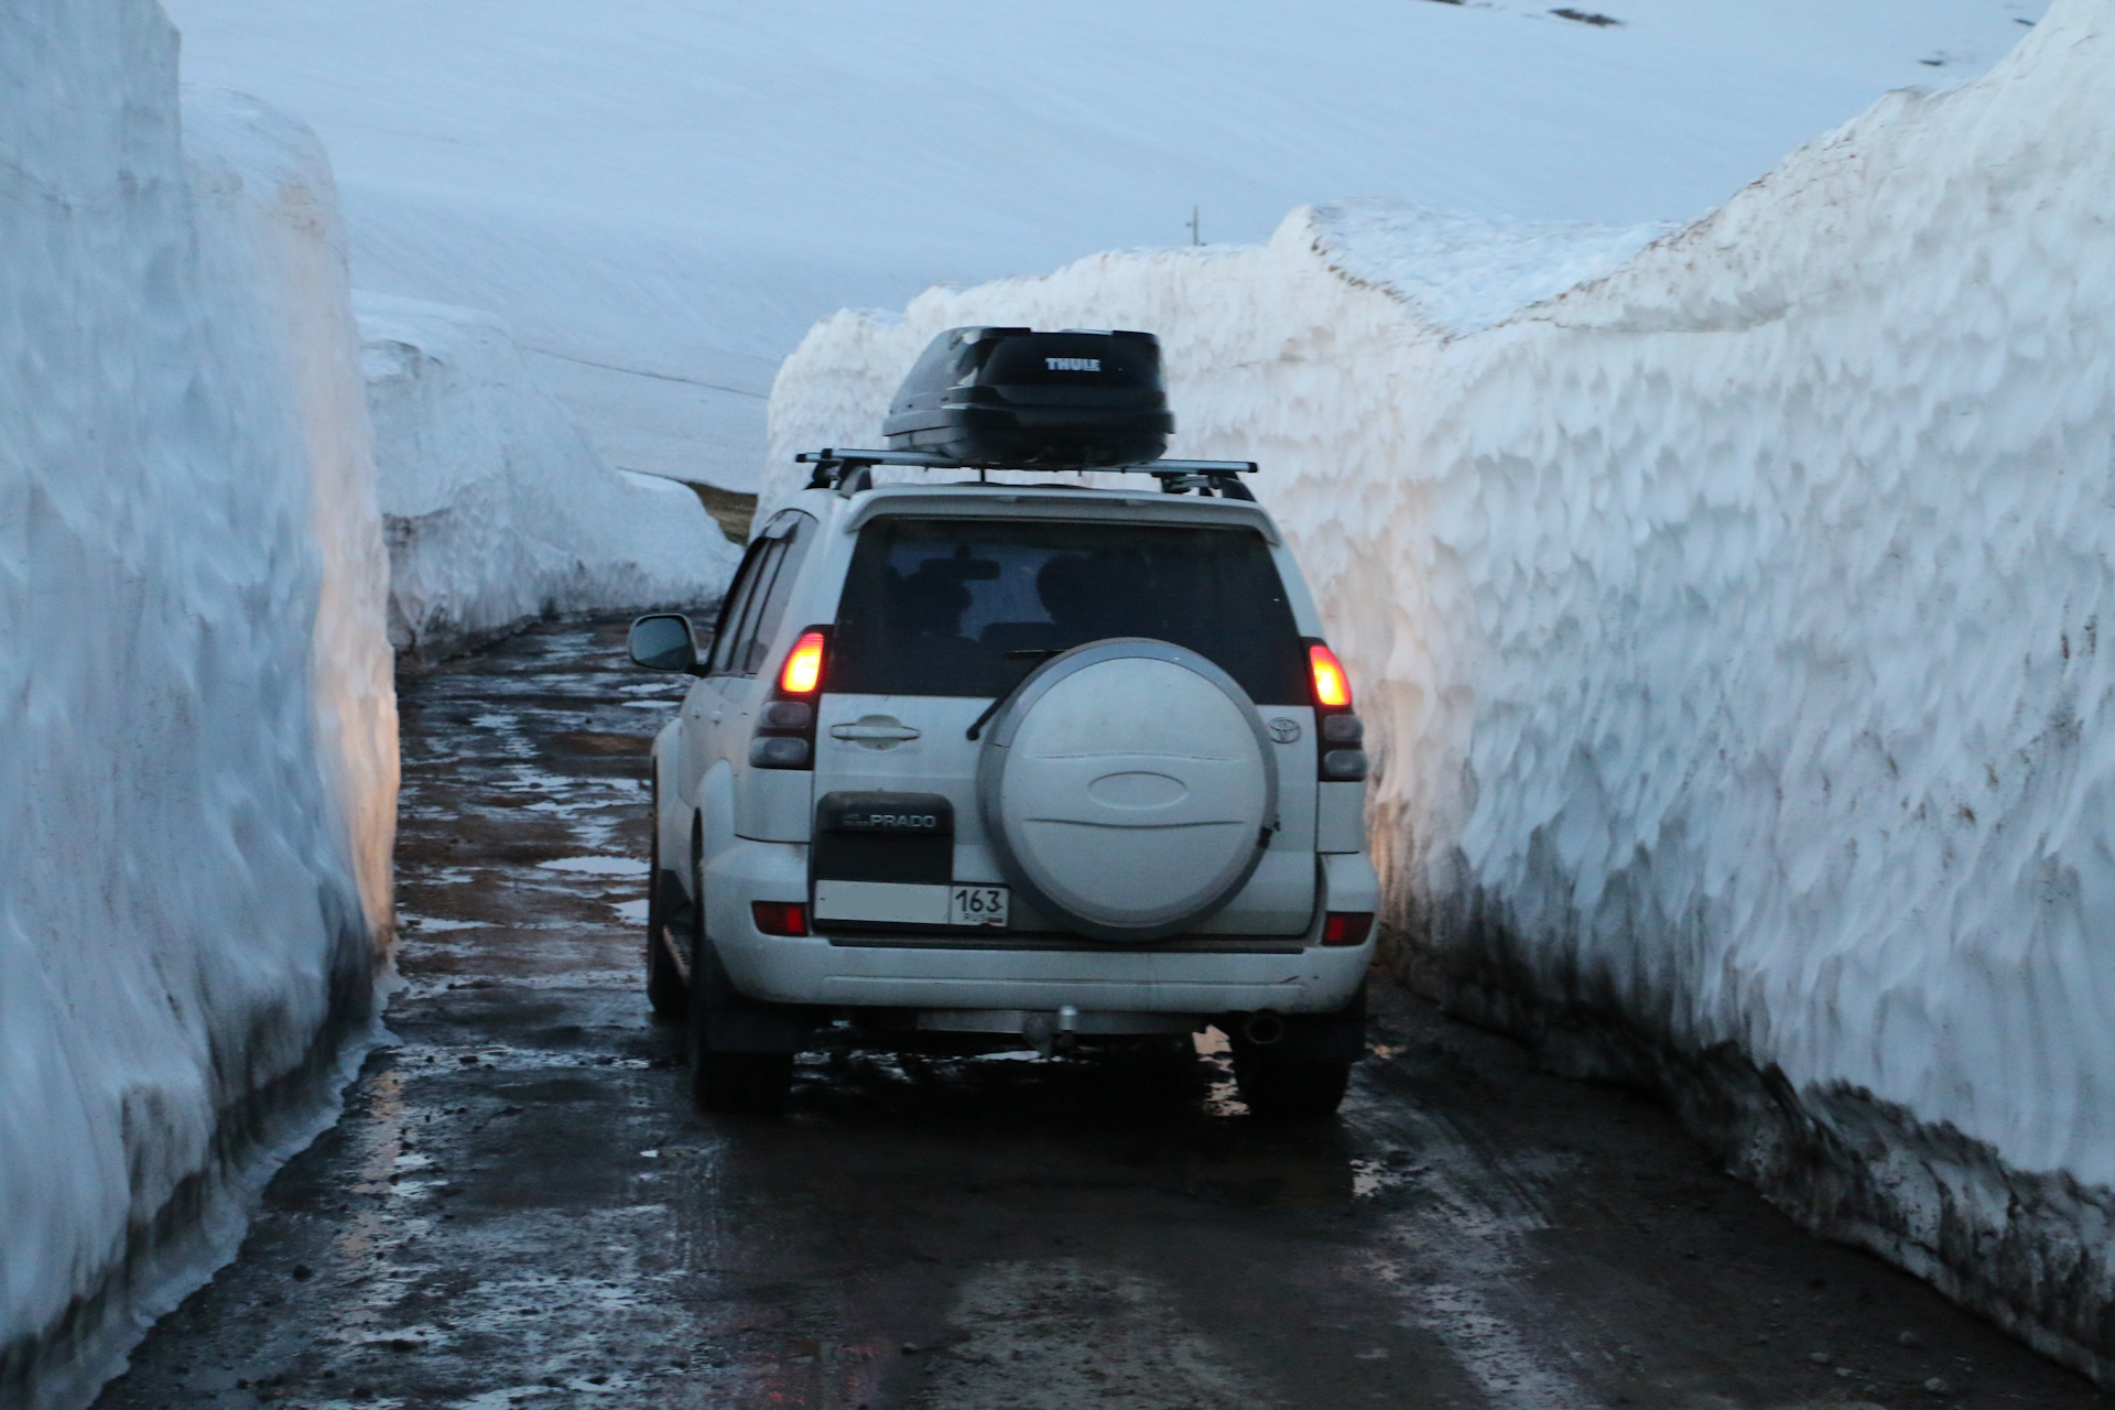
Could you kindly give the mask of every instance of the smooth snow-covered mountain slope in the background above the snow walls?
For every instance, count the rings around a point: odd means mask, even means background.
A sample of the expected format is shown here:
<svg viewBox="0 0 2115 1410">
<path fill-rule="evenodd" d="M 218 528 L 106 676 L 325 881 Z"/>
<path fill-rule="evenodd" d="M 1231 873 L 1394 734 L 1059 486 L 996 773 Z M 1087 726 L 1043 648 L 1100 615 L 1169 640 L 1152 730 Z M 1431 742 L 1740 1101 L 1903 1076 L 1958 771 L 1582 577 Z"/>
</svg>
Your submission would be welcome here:
<svg viewBox="0 0 2115 1410">
<path fill-rule="evenodd" d="M 499 313 L 611 463 L 751 488 L 819 317 L 1303 203 L 1688 220 L 2041 0 L 171 0 L 315 125 L 355 281 Z M 1939 68 L 1925 61 L 1935 59 Z"/>
</svg>

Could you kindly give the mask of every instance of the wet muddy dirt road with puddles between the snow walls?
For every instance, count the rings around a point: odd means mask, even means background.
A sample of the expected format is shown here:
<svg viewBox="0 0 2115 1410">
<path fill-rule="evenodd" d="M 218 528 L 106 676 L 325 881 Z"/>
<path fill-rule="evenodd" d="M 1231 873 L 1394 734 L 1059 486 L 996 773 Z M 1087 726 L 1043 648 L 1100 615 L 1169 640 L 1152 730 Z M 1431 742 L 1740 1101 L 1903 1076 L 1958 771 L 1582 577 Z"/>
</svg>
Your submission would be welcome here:
<svg viewBox="0 0 2115 1410">
<path fill-rule="evenodd" d="M 1326 1129 L 1180 1057 L 814 1059 L 700 1118 L 639 983 L 679 685 L 605 624 L 402 695 L 400 1042 L 104 1410 L 2107 1404 L 1394 991 Z"/>
</svg>

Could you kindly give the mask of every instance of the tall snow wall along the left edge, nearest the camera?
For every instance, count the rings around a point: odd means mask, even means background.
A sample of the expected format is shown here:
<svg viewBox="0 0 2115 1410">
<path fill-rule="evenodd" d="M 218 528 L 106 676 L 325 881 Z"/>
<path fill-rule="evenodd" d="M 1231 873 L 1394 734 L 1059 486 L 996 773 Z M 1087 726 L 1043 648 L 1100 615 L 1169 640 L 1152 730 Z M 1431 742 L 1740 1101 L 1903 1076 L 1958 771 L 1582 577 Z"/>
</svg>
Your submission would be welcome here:
<svg viewBox="0 0 2115 1410">
<path fill-rule="evenodd" d="M 336 194 L 152 0 L 0 0 L 0 1402 L 76 1406 L 336 1112 L 389 926 Z"/>
</svg>

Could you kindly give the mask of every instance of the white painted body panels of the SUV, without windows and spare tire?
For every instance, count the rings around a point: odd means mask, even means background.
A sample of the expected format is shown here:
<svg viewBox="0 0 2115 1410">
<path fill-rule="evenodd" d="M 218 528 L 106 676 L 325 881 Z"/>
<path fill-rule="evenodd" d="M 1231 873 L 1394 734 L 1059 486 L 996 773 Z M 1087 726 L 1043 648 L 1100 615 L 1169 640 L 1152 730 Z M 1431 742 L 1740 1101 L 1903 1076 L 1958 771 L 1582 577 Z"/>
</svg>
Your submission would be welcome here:
<svg viewBox="0 0 2115 1410">
<path fill-rule="evenodd" d="M 850 497 L 806 490 L 789 512 L 812 516 L 814 528 L 757 672 L 696 681 L 679 719 L 654 744 L 662 865 L 677 873 L 685 892 L 694 890 L 689 856 L 696 829 L 704 856 L 706 934 L 740 994 L 819 1006 L 1074 1006 L 1081 1013 L 1134 1015 L 1332 1013 L 1349 1002 L 1373 960 L 1373 939 L 1324 947 L 1322 917 L 1326 911 L 1375 911 L 1379 877 L 1366 856 L 1364 784 L 1316 780 L 1311 706 L 1263 708 L 1267 725 L 1290 719 L 1296 727 L 1296 738 L 1282 738 L 1290 734 L 1284 727 L 1273 734 L 1280 829 L 1233 901 L 1184 936 L 1140 947 L 1091 941 L 1060 947 L 1043 939 L 1060 934 L 1060 928 L 1036 915 L 1019 892 L 1013 894 L 1007 934 L 1034 941 L 992 936 L 975 945 L 918 945 L 914 939 L 873 943 L 871 936 L 761 934 L 751 901 L 812 901 L 806 843 L 816 799 L 831 791 L 948 797 L 956 816 L 954 879 L 1005 884 L 977 808 L 979 746 L 964 740 L 990 700 L 829 693 L 825 681 L 814 769 L 749 765 L 757 710 L 770 698 L 774 672 L 804 630 L 835 619 L 859 528 L 878 516 L 1250 526 L 1271 545 L 1299 632 L 1322 636 L 1313 600 L 1277 526 L 1258 505 L 1244 501 L 1036 486 L 882 486 Z M 914 727 L 918 736 L 873 738 L 873 725 L 890 723 Z"/>
</svg>

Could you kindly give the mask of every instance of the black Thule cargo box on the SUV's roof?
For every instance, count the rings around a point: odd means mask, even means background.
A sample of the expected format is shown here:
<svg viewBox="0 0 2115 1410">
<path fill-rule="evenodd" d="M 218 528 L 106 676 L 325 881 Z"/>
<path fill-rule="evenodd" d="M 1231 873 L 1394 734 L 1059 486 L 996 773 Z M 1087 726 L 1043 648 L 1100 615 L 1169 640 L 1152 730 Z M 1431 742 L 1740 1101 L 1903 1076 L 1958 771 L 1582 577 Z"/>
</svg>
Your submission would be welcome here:
<svg viewBox="0 0 2115 1410">
<path fill-rule="evenodd" d="M 1085 469 L 1159 459 L 1176 419 L 1148 332 L 950 328 L 903 378 L 890 450 Z"/>
</svg>

